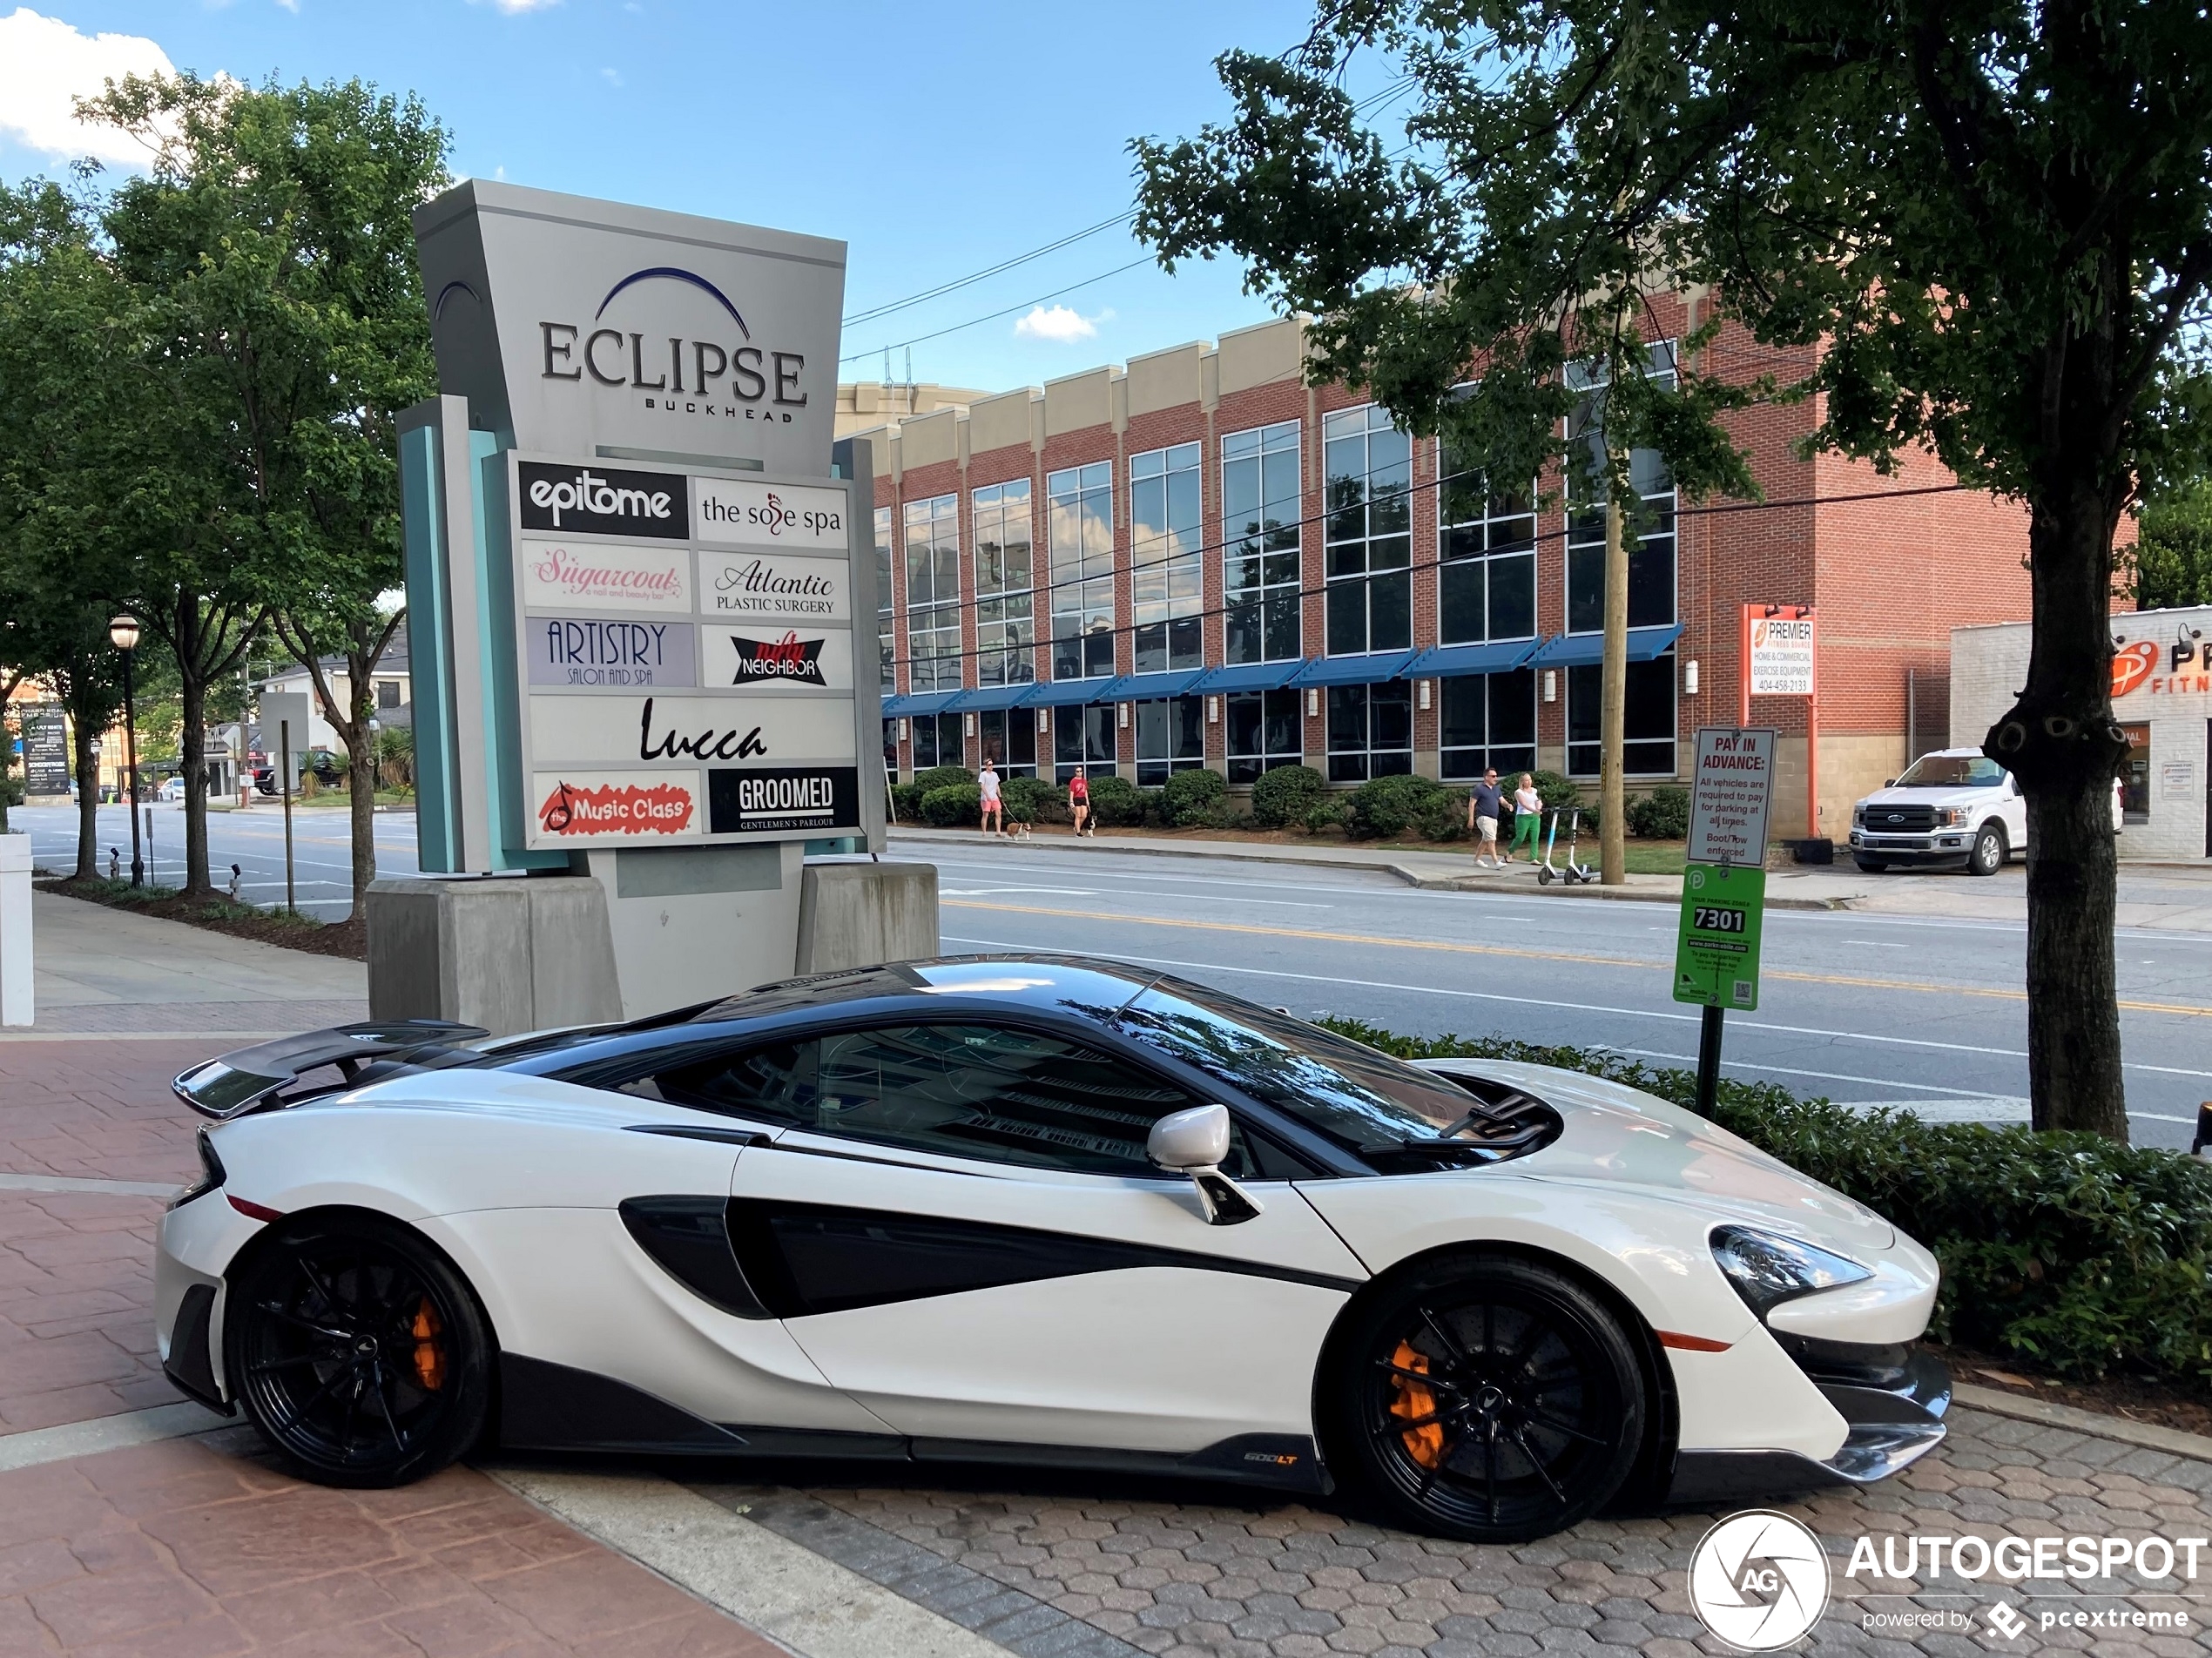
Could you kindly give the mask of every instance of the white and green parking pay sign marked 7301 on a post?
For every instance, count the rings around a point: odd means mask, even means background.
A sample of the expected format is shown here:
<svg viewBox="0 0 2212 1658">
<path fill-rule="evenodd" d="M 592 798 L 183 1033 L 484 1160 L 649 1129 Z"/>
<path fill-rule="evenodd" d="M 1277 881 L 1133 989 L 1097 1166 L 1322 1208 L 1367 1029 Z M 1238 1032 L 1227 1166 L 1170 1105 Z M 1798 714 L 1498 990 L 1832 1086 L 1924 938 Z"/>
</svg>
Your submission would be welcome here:
<svg viewBox="0 0 2212 1658">
<path fill-rule="evenodd" d="M 1774 732 L 1701 727 L 1690 791 L 1690 860 L 1681 875 L 1674 999 L 1759 1006 L 1759 931 L 1767 904 L 1767 807 Z"/>
</svg>

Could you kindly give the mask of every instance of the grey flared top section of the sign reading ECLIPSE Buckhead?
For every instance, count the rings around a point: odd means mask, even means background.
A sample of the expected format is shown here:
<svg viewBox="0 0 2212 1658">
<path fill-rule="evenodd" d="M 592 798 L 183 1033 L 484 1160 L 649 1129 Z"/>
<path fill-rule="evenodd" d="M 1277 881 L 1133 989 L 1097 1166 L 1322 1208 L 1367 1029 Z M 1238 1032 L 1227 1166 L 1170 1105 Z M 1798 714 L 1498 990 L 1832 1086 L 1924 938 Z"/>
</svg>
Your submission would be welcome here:
<svg viewBox="0 0 2212 1658">
<path fill-rule="evenodd" d="M 438 385 L 502 447 L 830 473 L 845 243 L 489 179 L 420 208 L 416 241 Z M 591 460 L 538 484 L 573 502 L 546 528 L 657 517 Z"/>
</svg>

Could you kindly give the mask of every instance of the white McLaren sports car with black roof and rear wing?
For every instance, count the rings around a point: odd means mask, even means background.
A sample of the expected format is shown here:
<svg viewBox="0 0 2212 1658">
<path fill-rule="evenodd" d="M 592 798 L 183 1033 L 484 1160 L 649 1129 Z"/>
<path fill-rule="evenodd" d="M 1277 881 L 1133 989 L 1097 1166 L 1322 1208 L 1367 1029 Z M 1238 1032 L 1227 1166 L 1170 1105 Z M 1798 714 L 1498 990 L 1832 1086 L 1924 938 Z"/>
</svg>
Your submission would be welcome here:
<svg viewBox="0 0 2212 1658">
<path fill-rule="evenodd" d="M 325 1070 L 325 1068 L 336 1070 Z M 170 1379 L 299 1475 L 476 1444 L 1338 1486 L 1540 1536 L 1942 1439 L 1936 1260 L 1699 1116 L 962 957 L 177 1079 Z"/>
</svg>

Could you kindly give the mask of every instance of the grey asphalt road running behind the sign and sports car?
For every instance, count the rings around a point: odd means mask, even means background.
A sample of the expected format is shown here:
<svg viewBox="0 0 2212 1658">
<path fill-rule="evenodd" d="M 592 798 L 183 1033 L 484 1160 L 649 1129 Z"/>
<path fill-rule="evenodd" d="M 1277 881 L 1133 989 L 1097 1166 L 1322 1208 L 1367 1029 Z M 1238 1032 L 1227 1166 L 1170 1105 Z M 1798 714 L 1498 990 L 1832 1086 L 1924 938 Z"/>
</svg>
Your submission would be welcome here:
<svg viewBox="0 0 2212 1658">
<path fill-rule="evenodd" d="M 66 869 L 75 811 L 18 809 L 35 860 Z M 376 820 L 378 869 L 414 873 L 414 816 Z M 100 844 L 131 862 L 119 807 Z M 1694 1063 L 1697 1010 L 1670 999 L 1668 904 L 1413 891 L 1383 873 L 1106 853 L 1040 840 L 907 844 L 940 869 L 947 951 L 1051 948 L 1161 966 L 1294 1012 L 1394 1030 L 1504 1032 Z M 210 816 L 219 880 L 283 902 L 276 809 Z M 349 909 L 347 820 L 294 811 L 301 909 Z M 153 878 L 184 880 L 184 809 L 153 807 Z M 1933 1119 L 2026 1121 L 2024 928 L 2017 922 L 1772 911 L 1761 1006 L 1728 1019 L 1730 1074 Z M 2124 928 L 2128 1103 L 2143 1145 L 2185 1145 L 2212 1099 L 2212 933 Z"/>
</svg>

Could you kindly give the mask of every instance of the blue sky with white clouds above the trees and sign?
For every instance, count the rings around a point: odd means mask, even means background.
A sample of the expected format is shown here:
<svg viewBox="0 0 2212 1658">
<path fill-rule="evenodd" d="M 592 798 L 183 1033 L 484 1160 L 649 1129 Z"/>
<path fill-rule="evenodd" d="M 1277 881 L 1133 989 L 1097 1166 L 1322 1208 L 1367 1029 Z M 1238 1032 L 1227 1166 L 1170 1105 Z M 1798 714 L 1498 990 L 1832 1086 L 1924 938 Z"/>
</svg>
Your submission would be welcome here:
<svg viewBox="0 0 2212 1658">
<path fill-rule="evenodd" d="M 1281 51 L 1310 18 L 1303 0 L 0 0 L 0 175 L 84 148 L 58 91 L 155 49 L 254 82 L 361 75 L 420 93 L 456 172 L 841 237 L 856 314 L 1124 212 L 1128 139 L 1219 117 L 1212 57 Z M 1002 389 L 1263 321 L 1234 265 L 1086 281 L 1141 252 L 1110 230 L 858 323 L 841 376 L 876 378 L 894 345 L 902 378 L 916 340 L 914 378 Z"/>
</svg>

